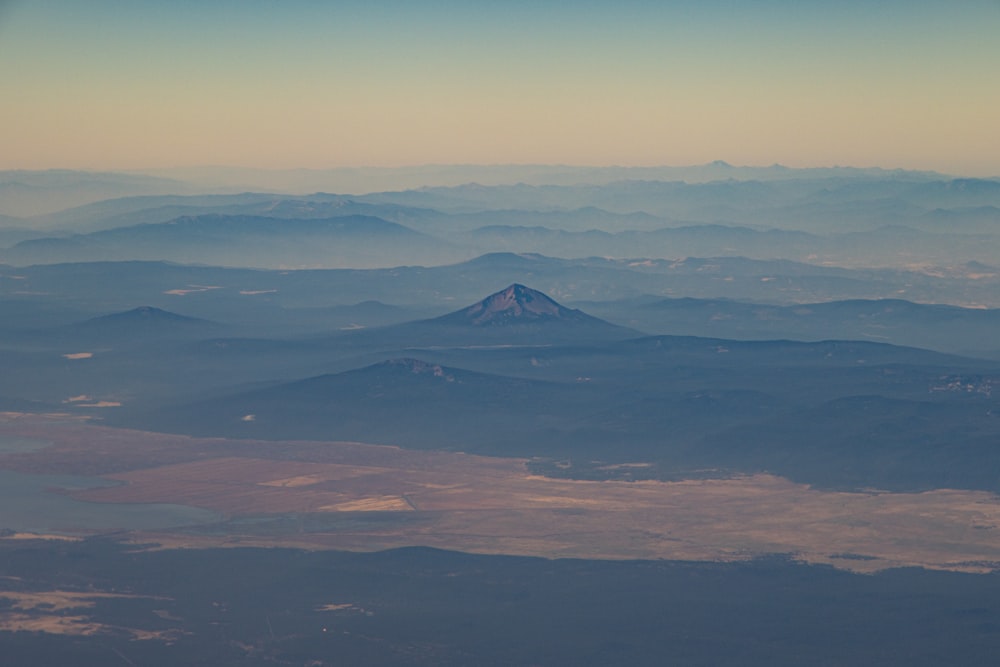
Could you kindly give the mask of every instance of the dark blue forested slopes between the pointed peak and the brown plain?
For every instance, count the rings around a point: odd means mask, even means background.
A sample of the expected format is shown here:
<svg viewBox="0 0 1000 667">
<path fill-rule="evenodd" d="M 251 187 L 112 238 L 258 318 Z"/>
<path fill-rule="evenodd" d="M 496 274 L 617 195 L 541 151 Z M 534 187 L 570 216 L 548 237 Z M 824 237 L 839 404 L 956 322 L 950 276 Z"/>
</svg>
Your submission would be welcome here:
<svg viewBox="0 0 1000 667">
<path fill-rule="evenodd" d="M 494 372 L 397 359 L 109 420 L 565 459 L 546 472 L 574 477 L 639 461 L 665 479 L 764 470 L 838 488 L 1000 488 L 1000 371 L 976 360 L 863 342 L 674 337 L 425 352 Z"/>
</svg>

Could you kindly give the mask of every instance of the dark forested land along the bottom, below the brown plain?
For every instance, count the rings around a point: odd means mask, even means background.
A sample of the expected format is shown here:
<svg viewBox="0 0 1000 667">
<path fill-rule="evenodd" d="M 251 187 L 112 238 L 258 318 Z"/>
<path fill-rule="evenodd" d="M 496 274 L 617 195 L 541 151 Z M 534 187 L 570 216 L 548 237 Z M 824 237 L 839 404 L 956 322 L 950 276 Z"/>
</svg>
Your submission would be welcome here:
<svg viewBox="0 0 1000 667">
<path fill-rule="evenodd" d="M 598 562 L 0 544 L 15 594 L 95 598 L 90 637 L 6 635 L 10 664 L 991 665 L 1000 580 L 782 557 Z M 8 603 L 8 609 L 10 603 Z M 48 612 L 51 613 L 51 612 Z M 67 615 L 72 610 L 65 612 Z M 162 633 L 136 641 L 132 631 Z"/>
</svg>

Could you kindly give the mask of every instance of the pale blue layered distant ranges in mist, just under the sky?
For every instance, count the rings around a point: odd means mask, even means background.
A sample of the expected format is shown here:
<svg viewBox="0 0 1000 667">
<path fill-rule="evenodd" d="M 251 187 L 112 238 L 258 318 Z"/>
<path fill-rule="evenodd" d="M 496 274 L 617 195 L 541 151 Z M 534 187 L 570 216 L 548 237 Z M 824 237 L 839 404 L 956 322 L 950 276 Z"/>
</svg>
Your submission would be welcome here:
<svg viewBox="0 0 1000 667">
<path fill-rule="evenodd" d="M 753 173 L 729 165 L 712 170 Z M 1000 256 L 1000 181 L 878 170 L 769 168 L 760 174 L 768 177 L 126 197 L 8 217 L 0 225 L 0 243 L 7 246 L 0 258 L 17 265 L 157 259 L 389 268 L 514 251 L 905 267 L 989 264 Z M 369 233 L 364 243 L 354 235 L 362 227 Z"/>
</svg>

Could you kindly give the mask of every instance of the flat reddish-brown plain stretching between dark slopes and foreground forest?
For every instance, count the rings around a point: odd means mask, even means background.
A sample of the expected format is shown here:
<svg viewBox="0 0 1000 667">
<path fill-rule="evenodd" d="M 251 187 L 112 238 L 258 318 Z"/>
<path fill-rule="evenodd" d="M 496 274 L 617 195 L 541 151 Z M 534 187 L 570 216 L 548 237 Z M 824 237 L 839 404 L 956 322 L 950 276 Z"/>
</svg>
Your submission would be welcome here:
<svg viewBox="0 0 1000 667">
<path fill-rule="evenodd" d="M 791 553 L 856 571 L 985 571 L 1000 563 L 1000 498 L 975 491 L 847 493 L 771 475 L 678 482 L 573 481 L 523 459 L 340 442 L 197 439 L 6 415 L 0 435 L 53 446 L 0 468 L 125 482 L 92 502 L 181 503 L 227 517 L 319 513 L 359 521 L 322 532 L 136 533 L 164 546 L 350 550 L 432 546 L 542 557 L 733 560 Z M 368 514 L 375 513 L 375 514 Z M 398 521 L 364 521 L 366 516 Z"/>
</svg>

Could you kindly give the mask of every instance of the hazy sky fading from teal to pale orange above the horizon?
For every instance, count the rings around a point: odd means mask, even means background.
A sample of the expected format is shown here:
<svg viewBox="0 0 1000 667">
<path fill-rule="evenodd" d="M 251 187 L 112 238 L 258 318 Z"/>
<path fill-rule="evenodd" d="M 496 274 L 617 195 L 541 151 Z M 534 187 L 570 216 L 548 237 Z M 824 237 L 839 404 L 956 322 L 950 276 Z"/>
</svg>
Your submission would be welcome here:
<svg viewBox="0 0 1000 667">
<path fill-rule="evenodd" d="M 1000 0 L 0 0 L 0 168 L 1000 175 Z"/>
</svg>

